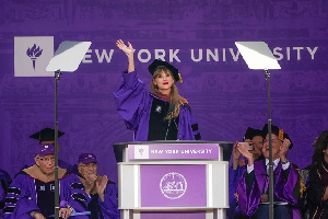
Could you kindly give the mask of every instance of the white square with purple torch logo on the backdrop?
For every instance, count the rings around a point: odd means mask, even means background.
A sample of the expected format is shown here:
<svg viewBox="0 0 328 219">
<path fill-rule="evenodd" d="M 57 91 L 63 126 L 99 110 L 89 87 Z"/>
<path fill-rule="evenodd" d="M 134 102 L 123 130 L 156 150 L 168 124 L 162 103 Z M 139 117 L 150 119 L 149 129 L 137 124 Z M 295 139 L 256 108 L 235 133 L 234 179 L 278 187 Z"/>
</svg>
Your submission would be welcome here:
<svg viewBox="0 0 328 219">
<path fill-rule="evenodd" d="M 54 77 L 46 68 L 54 57 L 52 36 L 15 36 L 15 77 Z"/>
</svg>

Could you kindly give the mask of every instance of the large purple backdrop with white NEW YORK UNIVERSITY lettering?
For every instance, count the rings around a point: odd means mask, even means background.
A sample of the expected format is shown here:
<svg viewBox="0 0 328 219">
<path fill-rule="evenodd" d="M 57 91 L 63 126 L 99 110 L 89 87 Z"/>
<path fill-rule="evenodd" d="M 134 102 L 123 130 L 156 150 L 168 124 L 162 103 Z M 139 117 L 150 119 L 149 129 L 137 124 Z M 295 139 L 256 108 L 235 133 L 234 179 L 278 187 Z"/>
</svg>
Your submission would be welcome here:
<svg viewBox="0 0 328 219">
<path fill-rule="evenodd" d="M 15 36 L 54 36 L 55 50 L 62 41 L 93 43 L 92 62 L 63 73 L 58 84 L 59 130 L 66 132 L 59 157 L 74 164 L 80 152 L 94 152 L 101 174 L 114 181 L 113 143 L 132 140 L 113 96 L 127 68 L 126 55 L 115 46 L 119 38 L 137 49 L 137 70 L 145 82 L 155 53 L 165 53 L 179 69 L 180 94 L 203 140 L 242 140 L 248 126 L 267 123 L 263 73 L 248 70 L 236 41 L 265 41 L 279 59 L 282 70 L 271 71 L 272 124 L 293 140 L 291 161 L 308 165 L 312 142 L 328 127 L 327 0 L 1 2 L 0 168 L 12 175 L 34 157 L 37 142 L 28 136 L 55 127 L 55 79 L 14 77 Z M 110 57 L 102 56 L 110 49 Z"/>
</svg>

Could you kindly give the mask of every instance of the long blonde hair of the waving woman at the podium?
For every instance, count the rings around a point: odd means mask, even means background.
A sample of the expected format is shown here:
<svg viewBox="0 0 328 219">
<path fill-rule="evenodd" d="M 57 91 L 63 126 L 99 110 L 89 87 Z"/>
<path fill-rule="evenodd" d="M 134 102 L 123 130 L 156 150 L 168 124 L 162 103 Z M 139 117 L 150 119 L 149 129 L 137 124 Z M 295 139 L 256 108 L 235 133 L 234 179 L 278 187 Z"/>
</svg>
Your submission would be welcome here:
<svg viewBox="0 0 328 219">
<path fill-rule="evenodd" d="M 153 83 L 153 81 L 162 74 L 162 72 L 164 73 L 169 73 L 174 80 L 174 77 L 172 74 L 172 72 L 166 69 L 165 67 L 159 67 L 156 69 L 156 71 L 153 73 L 153 80 L 151 82 L 151 85 L 150 85 L 150 89 L 152 91 L 152 93 L 154 94 L 161 94 L 160 90 L 159 90 L 159 87 L 155 85 Z M 171 91 L 169 91 L 169 103 L 171 104 L 174 104 L 175 108 L 174 108 L 174 112 L 171 114 L 171 115 L 167 115 L 166 116 L 166 119 L 171 119 L 171 118 L 175 118 L 179 115 L 180 113 L 180 105 L 183 105 L 183 101 L 181 101 L 181 96 L 179 95 L 179 92 L 178 92 L 178 89 L 177 87 L 175 85 L 175 83 L 172 84 L 171 87 Z"/>
</svg>

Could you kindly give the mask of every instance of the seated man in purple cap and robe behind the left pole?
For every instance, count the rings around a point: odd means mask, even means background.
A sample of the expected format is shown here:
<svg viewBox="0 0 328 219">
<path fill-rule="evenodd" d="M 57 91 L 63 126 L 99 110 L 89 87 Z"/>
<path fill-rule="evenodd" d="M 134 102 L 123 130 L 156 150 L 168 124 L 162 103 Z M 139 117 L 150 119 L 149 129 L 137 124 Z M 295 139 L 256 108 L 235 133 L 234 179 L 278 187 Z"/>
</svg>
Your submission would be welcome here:
<svg viewBox="0 0 328 219">
<path fill-rule="evenodd" d="M 5 219 L 43 219 L 55 214 L 55 147 L 39 145 L 34 160 L 35 164 L 21 171 L 8 189 Z M 58 177 L 59 215 L 68 218 L 73 212 L 86 211 L 90 198 L 79 177 L 60 168 Z"/>
</svg>

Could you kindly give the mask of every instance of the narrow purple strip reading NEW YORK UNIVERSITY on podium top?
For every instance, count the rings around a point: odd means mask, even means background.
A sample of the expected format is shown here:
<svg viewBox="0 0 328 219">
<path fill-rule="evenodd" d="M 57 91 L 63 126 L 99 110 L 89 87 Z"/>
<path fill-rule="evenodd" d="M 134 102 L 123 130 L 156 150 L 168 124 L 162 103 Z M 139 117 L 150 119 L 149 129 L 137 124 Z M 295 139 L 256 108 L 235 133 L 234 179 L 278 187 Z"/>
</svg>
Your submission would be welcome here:
<svg viewBox="0 0 328 219">
<path fill-rule="evenodd" d="M 129 160 L 219 160 L 218 143 L 129 145 Z"/>
</svg>

